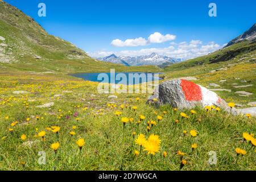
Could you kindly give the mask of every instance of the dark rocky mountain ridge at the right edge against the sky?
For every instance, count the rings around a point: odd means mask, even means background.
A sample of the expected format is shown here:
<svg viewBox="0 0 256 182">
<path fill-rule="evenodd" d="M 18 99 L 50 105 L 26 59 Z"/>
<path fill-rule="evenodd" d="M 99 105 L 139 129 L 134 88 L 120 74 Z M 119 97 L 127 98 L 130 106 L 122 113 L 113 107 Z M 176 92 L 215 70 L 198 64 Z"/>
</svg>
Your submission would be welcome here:
<svg viewBox="0 0 256 182">
<path fill-rule="evenodd" d="M 237 38 L 234 38 L 233 40 L 231 40 L 226 47 L 231 46 L 233 44 L 236 44 L 238 42 L 242 42 L 242 41 L 250 41 L 250 42 L 254 42 L 256 40 L 256 23 L 254 23 L 254 25 L 247 30 L 246 32 L 244 32 L 242 35 L 238 36 Z"/>
</svg>

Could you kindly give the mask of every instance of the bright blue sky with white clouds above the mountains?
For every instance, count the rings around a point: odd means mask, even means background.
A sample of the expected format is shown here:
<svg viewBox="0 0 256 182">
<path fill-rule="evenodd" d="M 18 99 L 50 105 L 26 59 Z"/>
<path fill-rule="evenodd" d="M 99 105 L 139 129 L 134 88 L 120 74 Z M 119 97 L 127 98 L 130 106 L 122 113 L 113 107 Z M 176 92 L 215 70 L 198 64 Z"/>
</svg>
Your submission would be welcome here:
<svg viewBox="0 0 256 182">
<path fill-rule="evenodd" d="M 188 59 L 221 48 L 256 20 L 254 0 L 5 1 L 94 57 L 157 52 Z M 46 17 L 38 16 L 40 2 L 46 4 Z M 217 17 L 208 15 L 211 2 Z"/>
</svg>

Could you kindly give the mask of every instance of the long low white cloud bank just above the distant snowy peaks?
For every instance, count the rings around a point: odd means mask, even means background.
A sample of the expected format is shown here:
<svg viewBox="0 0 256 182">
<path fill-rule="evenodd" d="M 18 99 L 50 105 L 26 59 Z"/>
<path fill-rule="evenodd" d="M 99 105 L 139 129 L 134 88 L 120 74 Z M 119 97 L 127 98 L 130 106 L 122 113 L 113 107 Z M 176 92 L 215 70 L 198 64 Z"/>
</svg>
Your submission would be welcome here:
<svg viewBox="0 0 256 182">
<path fill-rule="evenodd" d="M 159 55 L 166 55 L 170 57 L 182 58 L 184 60 L 192 59 L 194 57 L 199 57 L 207 55 L 210 52 L 214 52 L 223 46 L 220 46 L 217 43 L 209 42 L 203 44 L 200 40 L 192 40 L 191 42 L 182 42 L 177 44 L 177 46 L 169 46 L 164 48 L 144 48 L 139 50 L 124 50 L 119 52 L 111 51 L 98 51 L 89 53 L 92 57 L 105 57 L 114 53 L 117 56 L 141 56 L 141 55 L 150 55 L 152 52 L 156 52 Z"/>
</svg>

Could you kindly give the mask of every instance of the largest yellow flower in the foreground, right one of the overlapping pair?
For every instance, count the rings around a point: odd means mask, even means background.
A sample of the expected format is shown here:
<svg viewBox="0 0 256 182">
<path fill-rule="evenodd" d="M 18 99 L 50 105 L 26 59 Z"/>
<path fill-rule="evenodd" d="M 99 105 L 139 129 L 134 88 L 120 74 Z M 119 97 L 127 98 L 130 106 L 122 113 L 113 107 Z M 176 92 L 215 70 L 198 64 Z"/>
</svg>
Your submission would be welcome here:
<svg viewBox="0 0 256 182">
<path fill-rule="evenodd" d="M 143 151 L 147 151 L 147 154 L 155 155 L 155 153 L 159 152 L 161 140 L 158 135 L 151 134 L 148 140 L 144 143 Z"/>
</svg>

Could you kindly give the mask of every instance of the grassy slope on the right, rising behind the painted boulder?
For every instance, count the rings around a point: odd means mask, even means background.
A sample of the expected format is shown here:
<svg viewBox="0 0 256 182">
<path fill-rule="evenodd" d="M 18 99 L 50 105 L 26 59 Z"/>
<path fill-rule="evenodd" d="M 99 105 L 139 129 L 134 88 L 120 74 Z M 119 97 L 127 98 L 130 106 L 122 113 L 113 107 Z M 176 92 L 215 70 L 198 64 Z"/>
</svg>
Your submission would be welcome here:
<svg viewBox="0 0 256 182">
<path fill-rule="evenodd" d="M 192 60 L 184 61 L 183 63 L 174 64 L 164 69 L 167 79 L 177 77 L 194 76 L 198 78 L 195 82 L 203 86 L 209 86 L 209 83 L 215 83 L 221 86 L 221 88 L 231 89 L 232 92 L 217 92 L 226 101 L 234 101 L 237 104 L 247 104 L 251 101 L 256 101 L 256 43 L 242 42 L 234 44 L 228 48 L 216 51 L 207 56 L 197 57 Z M 244 51 L 228 59 L 227 61 L 221 61 L 218 63 L 210 63 L 210 60 L 216 59 L 216 56 L 229 55 L 229 51 L 236 52 L 237 49 L 251 48 L 251 51 Z M 212 70 L 218 68 L 228 68 L 227 71 L 218 71 L 210 73 Z M 237 80 L 240 78 L 240 80 Z M 227 80 L 226 82 L 220 82 L 220 80 Z M 243 81 L 246 82 L 243 82 Z M 237 85 L 233 85 L 237 84 Z M 241 85 L 253 85 L 247 88 L 233 88 L 233 86 Z M 235 94 L 237 91 L 246 91 L 253 93 L 249 97 L 242 97 L 239 94 Z"/>
</svg>

